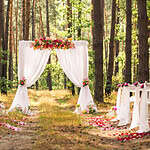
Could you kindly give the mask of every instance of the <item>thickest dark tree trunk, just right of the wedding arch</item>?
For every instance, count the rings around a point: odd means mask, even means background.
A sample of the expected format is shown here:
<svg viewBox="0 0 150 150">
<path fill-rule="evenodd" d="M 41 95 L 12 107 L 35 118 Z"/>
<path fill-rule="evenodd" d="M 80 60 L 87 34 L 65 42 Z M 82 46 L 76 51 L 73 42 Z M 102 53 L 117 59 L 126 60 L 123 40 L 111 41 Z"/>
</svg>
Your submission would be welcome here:
<svg viewBox="0 0 150 150">
<path fill-rule="evenodd" d="M 103 36 L 104 36 L 104 0 L 93 1 L 93 50 L 95 51 L 95 91 L 94 98 L 104 102 L 103 98 Z"/>
</svg>

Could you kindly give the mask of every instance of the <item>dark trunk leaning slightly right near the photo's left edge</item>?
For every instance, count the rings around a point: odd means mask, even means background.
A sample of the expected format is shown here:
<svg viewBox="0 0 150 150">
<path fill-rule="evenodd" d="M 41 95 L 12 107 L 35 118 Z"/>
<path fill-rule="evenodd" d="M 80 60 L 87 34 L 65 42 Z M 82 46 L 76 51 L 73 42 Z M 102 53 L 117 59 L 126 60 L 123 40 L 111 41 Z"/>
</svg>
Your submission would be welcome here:
<svg viewBox="0 0 150 150">
<path fill-rule="evenodd" d="M 4 34 L 4 42 L 3 42 L 3 64 L 2 64 L 2 88 L 1 93 L 7 94 L 7 52 L 8 52 L 8 27 L 9 27 L 9 8 L 10 8 L 10 0 L 7 4 L 7 14 L 6 14 L 6 24 L 5 24 L 5 34 Z"/>
</svg>

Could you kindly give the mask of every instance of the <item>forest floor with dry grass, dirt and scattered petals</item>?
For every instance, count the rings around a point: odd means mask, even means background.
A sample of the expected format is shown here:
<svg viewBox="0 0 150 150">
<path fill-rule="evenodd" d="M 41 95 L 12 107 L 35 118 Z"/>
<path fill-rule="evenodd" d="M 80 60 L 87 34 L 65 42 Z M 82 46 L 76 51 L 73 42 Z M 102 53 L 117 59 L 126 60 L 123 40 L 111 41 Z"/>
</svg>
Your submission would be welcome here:
<svg viewBox="0 0 150 150">
<path fill-rule="evenodd" d="M 6 109 L 14 95 L 15 91 L 0 96 Z M 0 114 L 0 150 L 150 150 L 150 134 L 132 140 L 118 138 L 129 131 L 126 126 L 117 127 L 107 115 L 116 93 L 99 104 L 94 115 L 72 113 L 78 97 L 69 91 L 30 89 L 29 97 L 31 116 L 19 111 Z M 94 127 L 96 121 L 105 127 Z"/>
</svg>

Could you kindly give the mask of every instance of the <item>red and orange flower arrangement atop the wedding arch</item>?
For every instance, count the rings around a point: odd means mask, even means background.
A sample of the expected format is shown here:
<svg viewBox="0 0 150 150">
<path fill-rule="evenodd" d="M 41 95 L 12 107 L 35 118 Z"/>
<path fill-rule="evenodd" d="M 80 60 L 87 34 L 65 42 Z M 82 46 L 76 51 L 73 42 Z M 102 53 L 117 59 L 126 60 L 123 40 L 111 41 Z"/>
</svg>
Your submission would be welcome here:
<svg viewBox="0 0 150 150">
<path fill-rule="evenodd" d="M 72 42 L 72 39 L 66 39 L 66 40 L 61 40 L 61 39 L 55 39 L 52 40 L 49 37 L 41 37 L 40 39 L 35 39 L 34 42 L 32 43 L 31 47 L 40 50 L 44 49 L 70 49 L 74 48 L 74 43 Z"/>
</svg>

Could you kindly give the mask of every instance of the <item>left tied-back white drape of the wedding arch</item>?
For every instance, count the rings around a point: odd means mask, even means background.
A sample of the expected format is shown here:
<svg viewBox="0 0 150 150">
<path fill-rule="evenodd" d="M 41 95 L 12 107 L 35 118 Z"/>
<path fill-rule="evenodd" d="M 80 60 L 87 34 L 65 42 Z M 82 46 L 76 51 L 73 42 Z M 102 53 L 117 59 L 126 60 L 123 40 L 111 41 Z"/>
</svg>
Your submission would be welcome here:
<svg viewBox="0 0 150 150">
<path fill-rule="evenodd" d="M 27 87 L 33 85 L 47 64 L 50 50 L 34 50 L 31 48 L 31 41 L 19 42 L 19 62 L 18 62 L 18 79 L 26 79 L 25 85 L 18 86 L 16 96 L 9 109 L 11 111 L 15 107 L 21 107 L 23 111 L 28 110 L 29 98 Z"/>
</svg>

